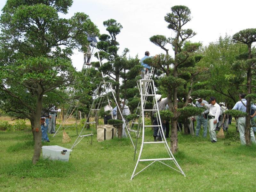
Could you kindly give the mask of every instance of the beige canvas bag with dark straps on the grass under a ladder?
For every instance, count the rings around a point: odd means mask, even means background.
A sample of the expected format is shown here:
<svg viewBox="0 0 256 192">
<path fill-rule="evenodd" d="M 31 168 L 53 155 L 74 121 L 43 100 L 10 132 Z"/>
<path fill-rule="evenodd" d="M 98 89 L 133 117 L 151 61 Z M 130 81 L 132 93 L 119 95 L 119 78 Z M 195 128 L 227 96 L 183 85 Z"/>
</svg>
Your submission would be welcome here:
<svg viewBox="0 0 256 192">
<path fill-rule="evenodd" d="M 104 141 L 117 137 L 116 128 L 113 125 L 98 125 L 97 140 Z"/>
</svg>

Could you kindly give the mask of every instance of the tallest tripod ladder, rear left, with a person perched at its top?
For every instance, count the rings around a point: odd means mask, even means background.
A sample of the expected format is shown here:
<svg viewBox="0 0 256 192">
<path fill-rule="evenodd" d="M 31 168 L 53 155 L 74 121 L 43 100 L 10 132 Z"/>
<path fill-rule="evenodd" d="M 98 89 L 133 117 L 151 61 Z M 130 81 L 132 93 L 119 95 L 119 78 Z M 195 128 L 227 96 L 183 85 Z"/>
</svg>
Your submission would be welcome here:
<svg viewBox="0 0 256 192">
<path fill-rule="evenodd" d="M 95 52 L 97 52 L 98 60 L 100 61 L 100 55 L 99 55 L 99 52 L 97 50 L 97 43 L 91 42 L 88 45 L 87 52 L 84 53 L 84 64 L 83 64 L 83 68 L 81 70 L 81 72 L 83 73 L 84 76 L 88 76 L 88 74 L 89 74 L 90 68 L 92 66 L 92 64 L 91 64 L 92 56 L 94 55 Z M 101 62 L 100 62 L 100 66 L 101 66 Z M 103 73 L 102 73 L 102 77 L 103 77 Z M 76 91 L 74 92 L 74 95 L 75 94 L 76 94 Z M 76 128 L 76 135 L 78 135 L 77 121 L 78 121 L 78 107 L 79 107 L 79 105 L 80 105 L 79 100 L 73 100 L 71 102 L 71 104 L 68 107 L 67 113 L 63 118 L 63 121 L 61 122 L 59 128 L 54 133 L 53 137 L 55 135 L 59 134 L 60 132 L 62 132 L 63 130 L 66 130 L 67 128 L 71 128 L 71 127 Z M 73 115 L 73 114 L 76 114 L 76 115 Z M 76 120 L 75 125 L 66 125 L 66 123 L 68 122 L 68 119 L 70 117 L 75 118 L 75 120 Z"/>
</svg>

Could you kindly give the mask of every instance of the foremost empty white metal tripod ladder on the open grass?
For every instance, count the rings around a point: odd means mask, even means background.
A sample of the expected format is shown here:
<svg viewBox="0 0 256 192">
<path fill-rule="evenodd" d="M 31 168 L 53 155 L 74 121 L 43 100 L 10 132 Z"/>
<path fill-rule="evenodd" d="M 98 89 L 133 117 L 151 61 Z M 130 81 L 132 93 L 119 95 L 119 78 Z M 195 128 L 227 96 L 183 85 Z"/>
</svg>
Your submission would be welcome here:
<svg viewBox="0 0 256 192">
<path fill-rule="evenodd" d="M 143 88 L 143 85 L 145 83 L 149 83 L 149 84 L 152 84 L 150 87 L 152 88 L 152 90 L 149 90 L 151 91 L 150 94 L 145 94 L 145 90 Z M 157 125 L 145 125 L 145 121 L 144 121 L 144 112 L 146 111 L 154 111 L 156 112 L 156 118 L 157 118 L 157 122 L 161 122 L 161 119 L 160 119 L 160 113 L 159 113 L 159 109 L 158 109 L 158 104 L 157 104 L 157 100 L 156 100 L 156 90 L 155 90 L 155 84 L 154 84 L 154 81 L 153 80 L 146 80 L 146 79 L 140 79 L 139 81 L 137 81 L 137 85 L 138 85 L 138 88 L 139 88 L 139 91 L 140 91 L 140 118 L 139 118 L 139 124 L 141 124 L 142 126 L 142 142 L 141 142 L 141 146 L 140 146 L 140 153 L 139 153 L 139 156 L 138 156 L 138 160 L 137 160 L 137 163 L 135 165 L 135 168 L 133 170 L 133 173 L 132 173 L 132 177 L 131 177 L 131 180 L 134 178 L 134 176 L 136 176 L 137 174 L 139 174 L 140 172 L 142 172 L 143 170 L 145 170 L 146 168 L 148 168 L 151 164 L 155 163 L 155 162 L 160 162 L 178 172 L 180 172 L 181 174 L 183 174 L 185 177 L 186 175 L 184 174 L 184 172 L 181 170 L 180 168 L 180 165 L 177 163 L 176 159 L 174 158 L 174 156 L 172 155 L 172 152 L 167 144 L 167 141 L 165 139 L 165 136 L 164 136 L 164 131 L 163 131 L 163 127 L 162 127 L 162 124 L 157 124 Z M 147 96 L 147 97 L 153 97 L 153 101 L 154 101 L 154 106 L 155 106 L 155 109 L 144 109 L 144 102 L 146 102 L 144 100 L 144 97 Z M 162 141 L 150 141 L 150 142 L 145 142 L 144 141 L 144 132 L 145 132 L 145 128 L 146 127 L 159 127 L 160 128 L 160 132 L 162 133 L 162 136 L 163 136 L 163 140 Z M 138 129 L 139 129 L 139 126 L 138 126 Z M 135 145 L 135 151 L 134 151 L 134 156 L 136 156 L 136 148 L 137 148 L 137 144 L 138 144 L 138 137 L 136 139 L 136 145 Z M 146 145 L 156 145 L 156 144 L 160 144 L 160 145 L 164 145 L 165 149 L 167 150 L 167 153 L 168 153 L 168 157 L 166 158 L 152 158 L 152 159 L 141 159 L 141 153 L 142 153 L 142 149 L 143 149 L 143 146 L 144 144 Z M 149 165 L 147 165 L 146 167 L 144 167 L 142 170 L 140 170 L 139 172 L 135 173 L 136 172 L 136 169 L 137 169 L 137 166 L 139 164 L 139 162 L 145 162 L 145 161 L 150 161 L 151 163 Z M 165 164 L 164 162 L 162 161 L 173 161 L 173 163 L 178 167 L 178 169 L 175 169 L 167 164 Z"/>
</svg>

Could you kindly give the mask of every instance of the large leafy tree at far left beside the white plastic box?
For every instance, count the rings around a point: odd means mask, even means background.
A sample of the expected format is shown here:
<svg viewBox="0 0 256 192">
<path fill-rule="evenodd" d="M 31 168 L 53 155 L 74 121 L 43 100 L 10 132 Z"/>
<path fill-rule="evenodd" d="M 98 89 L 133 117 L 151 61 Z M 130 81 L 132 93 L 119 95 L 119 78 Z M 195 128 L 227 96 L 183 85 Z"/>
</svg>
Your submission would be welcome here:
<svg viewBox="0 0 256 192">
<path fill-rule="evenodd" d="M 68 58 L 73 49 L 86 49 L 87 35 L 99 30 L 84 13 L 66 14 L 72 0 L 7 0 L 1 15 L 0 93 L 8 111 L 31 122 L 35 138 L 32 162 L 41 153 L 41 110 L 44 95 L 76 84 Z M 6 106 L 4 106 L 6 109 Z"/>
</svg>

